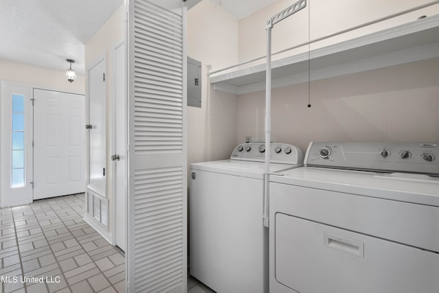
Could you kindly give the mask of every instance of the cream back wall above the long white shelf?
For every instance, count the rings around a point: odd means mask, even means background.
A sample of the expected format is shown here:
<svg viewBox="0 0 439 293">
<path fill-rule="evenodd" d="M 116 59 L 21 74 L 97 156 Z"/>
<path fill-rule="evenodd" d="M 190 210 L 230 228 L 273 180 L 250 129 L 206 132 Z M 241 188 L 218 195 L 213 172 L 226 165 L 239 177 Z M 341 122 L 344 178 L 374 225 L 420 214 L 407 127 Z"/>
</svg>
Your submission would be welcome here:
<svg viewBox="0 0 439 293">
<path fill-rule="evenodd" d="M 280 51 L 313 40 L 327 36 L 347 28 L 361 25 L 369 21 L 380 19 L 384 16 L 401 12 L 417 5 L 429 3 L 431 0 L 308 0 L 307 8 L 300 10 L 288 19 L 275 25 L 272 32 L 272 51 Z M 246 17 L 239 21 L 239 62 L 252 58 L 265 56 L 266 36 L 265 23 L 271 16 L 281 12 L 289 5 L 296 3 L 296 0 L 278 0 L 273 5 Z M 383 28 L 401 25 L 410 21 L 416 21 L 418 16 L 431 16 L 439 13 L 439 4 L 429 8 L 404 14 L 397 19 L 370 25 L 355 32 L 342 34 L 330 40 L 320 41 L 311 45 L 311 49 L 338 43 L 341 40 L 355 38 L 356 36 L 376 32 Z M 290 56 L 299 52 L 307 51 L 308 46 L 301 49 L 289 51 L 286 54 L 279 54 L 277 58 Z M 265 60 L 262 60 L 262 62 Z M 259 62 L 260 63 L 260 62 Z M 254 62 L 258 64 L 258 62 Z"/>
</svg>

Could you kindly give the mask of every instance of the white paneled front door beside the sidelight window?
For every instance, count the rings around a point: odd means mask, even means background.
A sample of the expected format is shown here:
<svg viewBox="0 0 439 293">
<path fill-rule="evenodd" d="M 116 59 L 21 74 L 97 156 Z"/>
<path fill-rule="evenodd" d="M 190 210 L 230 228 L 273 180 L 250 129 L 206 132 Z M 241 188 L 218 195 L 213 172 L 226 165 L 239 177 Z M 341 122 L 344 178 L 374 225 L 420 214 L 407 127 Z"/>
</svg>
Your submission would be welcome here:
<svg viewBox="0 0 439 293">
<path fill-rule="evenodd" d="M 34 89 L 34 200 L 85 191 L 84 95 Z"/>
</svg>

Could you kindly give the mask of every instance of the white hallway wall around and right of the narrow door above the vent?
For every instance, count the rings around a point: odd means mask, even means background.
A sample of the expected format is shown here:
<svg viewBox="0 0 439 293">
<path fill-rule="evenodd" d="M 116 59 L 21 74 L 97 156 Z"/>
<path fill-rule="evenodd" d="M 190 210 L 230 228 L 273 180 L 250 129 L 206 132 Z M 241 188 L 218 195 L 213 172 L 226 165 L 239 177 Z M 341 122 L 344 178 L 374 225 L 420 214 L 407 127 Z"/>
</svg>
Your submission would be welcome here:
<svg viewBox="0 0 439 293">
<path fill-rule="evenodd" d="M 108 207 L 114 204 L 114 191 L 112 180 L 114 180 L 113 164 L 110 161 L 110 154 L 112 152 L 112 95 L 115 91 L 113 84 L 115 80 L 114 62 L 112 49 L 119 44 L 125 37 L 126 28 L 126 7 L 121 5 L 114 14 L 106 21 L 104 25 L 88 40 L 85 45 L 85 67 L 86 69 L 93 64 L 98 58 L 105 56 L 106 60 L 106 197 L 108 198 Z M 110 209 L 111 210 L 111 209 Z M 108 228 L 112 231 L 112 213 L 109 214 Z"/>
</svg>

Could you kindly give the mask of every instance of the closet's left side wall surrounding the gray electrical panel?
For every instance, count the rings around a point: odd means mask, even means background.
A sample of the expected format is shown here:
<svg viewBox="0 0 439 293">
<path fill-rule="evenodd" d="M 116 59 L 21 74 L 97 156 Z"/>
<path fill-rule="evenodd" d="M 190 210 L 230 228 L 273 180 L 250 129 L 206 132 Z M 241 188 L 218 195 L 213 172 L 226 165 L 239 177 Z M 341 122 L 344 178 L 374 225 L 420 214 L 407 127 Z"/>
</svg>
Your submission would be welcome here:
<svg viewBox="0 0 439 293">
<path fill-rule="evenodd" d="M 188 163 L 228 159 L 237 145 L 237 98 L 211 90 L 206 66 L 238 60 L 238 21 L 204 0 L 187 13 L 188 56 L 202 62 L 202 107 L 188 107 Z M 189 165 L 188 164 L 188 165 Z"/>
</svg>

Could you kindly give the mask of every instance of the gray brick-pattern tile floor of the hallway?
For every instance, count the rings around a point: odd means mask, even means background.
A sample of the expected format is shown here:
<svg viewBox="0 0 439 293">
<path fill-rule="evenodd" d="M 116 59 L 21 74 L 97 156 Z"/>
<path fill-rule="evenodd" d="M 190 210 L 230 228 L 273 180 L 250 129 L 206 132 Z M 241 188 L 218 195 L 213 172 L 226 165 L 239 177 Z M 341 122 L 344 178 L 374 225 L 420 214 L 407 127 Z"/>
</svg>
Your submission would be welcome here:
<svg viewBox="0 0 439 293">
<path fill-rule="evenodd" d="M 77 194 L 0 209 L 1 293 L 125 292 L 123 251 L 82 220 L 84 207 Z"/>
</svg>

